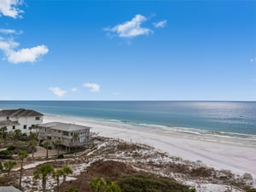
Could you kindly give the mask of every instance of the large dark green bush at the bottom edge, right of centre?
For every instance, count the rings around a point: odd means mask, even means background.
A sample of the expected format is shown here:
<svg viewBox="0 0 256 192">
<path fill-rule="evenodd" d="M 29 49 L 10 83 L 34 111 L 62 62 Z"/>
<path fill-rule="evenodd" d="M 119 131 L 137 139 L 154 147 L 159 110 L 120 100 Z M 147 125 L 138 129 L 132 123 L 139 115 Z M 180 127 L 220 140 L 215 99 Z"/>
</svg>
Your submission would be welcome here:
<svg viewBox="0 0 256 192">
<path fill-rule="evenodd" d="M 129 176 L 117 181 L 122 192 L 189 192 L 189 187 L 169 178 Z"/>
</svg>

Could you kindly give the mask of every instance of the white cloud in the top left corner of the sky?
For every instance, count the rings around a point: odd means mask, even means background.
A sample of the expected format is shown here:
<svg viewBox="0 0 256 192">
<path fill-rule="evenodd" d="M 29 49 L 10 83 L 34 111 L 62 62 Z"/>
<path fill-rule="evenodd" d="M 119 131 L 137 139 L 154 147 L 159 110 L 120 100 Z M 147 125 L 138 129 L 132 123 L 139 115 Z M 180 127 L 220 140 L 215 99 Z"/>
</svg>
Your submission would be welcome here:
<svg viewBox="0 0 256 192">
<path fill-rule="evenodd" d="M 22 0 L 1 0 L 0 16 L 9 16 L 15 19 L 21 17 L 20 14 L 23 13 L 23 11 L 20 10 L 18 6 L 22 3 Z"/>
</svg>

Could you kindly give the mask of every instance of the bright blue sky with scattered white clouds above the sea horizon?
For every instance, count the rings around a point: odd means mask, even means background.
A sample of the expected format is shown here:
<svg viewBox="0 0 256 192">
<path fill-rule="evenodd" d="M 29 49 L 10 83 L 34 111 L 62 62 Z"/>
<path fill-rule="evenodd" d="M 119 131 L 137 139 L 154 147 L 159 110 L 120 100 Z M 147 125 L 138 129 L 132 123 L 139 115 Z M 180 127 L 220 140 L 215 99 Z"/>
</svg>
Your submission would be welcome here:
<svg viewBox="0 0 256 192">
<path fill-rule="evenodd" d="M 0 100 L 256 101 L 256 1 L 0 0 Z"/>
</svg>

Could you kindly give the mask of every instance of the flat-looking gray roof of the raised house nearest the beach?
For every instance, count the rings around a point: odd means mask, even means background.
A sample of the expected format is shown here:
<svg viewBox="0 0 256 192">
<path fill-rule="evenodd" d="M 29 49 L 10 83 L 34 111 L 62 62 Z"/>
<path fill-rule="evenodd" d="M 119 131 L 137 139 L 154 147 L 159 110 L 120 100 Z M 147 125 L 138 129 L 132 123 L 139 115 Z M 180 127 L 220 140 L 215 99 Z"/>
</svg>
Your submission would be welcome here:
<svg viewBox="0 0 256 192">
<path fill-rule="evenodd" d="M 51 128 L 54 130 L 60 131 L 79 131 L 79 130 L 87 130 L 90 129 L 89 126 L 84 125 L 75 125 L 75 124 L 65 124 L 61 122 L 49 122 L 46 124 L 39 124 L 40 127 Z"/>
</svg>

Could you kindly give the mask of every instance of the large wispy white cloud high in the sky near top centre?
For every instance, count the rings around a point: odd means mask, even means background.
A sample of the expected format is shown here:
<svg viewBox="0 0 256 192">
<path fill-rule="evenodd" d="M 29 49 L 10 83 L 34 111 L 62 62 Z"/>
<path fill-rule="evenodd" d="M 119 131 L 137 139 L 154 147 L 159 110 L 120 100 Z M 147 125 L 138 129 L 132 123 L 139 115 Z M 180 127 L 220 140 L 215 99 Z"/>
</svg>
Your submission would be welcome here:
<svg viewBox="0 0 256 192">
<path fill-rule="evenodd" d="M 147 20 L 143 15 L 135 15 L 131 20 L 123 24 L 105 28 L 105 31 L 116 32 L 120 38 L 135 38 L 139 35 L 148 35 L 153 32 L 149 28 L 142 27 L 141 24 Z"/>
</svg>

